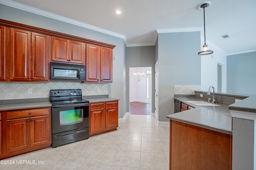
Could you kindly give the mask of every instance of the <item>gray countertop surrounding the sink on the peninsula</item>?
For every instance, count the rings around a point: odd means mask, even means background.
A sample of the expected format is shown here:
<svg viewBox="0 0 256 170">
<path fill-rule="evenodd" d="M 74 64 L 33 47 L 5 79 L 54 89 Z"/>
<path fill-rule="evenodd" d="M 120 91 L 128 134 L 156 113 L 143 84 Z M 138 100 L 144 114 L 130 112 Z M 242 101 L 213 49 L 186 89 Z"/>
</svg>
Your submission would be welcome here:
<svg viewBox="0 0 256 170">
<path fill-rule="evenodd" d="M 167 115 L 168 119 L 232 135 L 232 117 L 228 105 L 196 106 L 186 101 L 205 100 L 186 97 L 174 97 L 174 99 L 196 108 Z"/>
</svg>

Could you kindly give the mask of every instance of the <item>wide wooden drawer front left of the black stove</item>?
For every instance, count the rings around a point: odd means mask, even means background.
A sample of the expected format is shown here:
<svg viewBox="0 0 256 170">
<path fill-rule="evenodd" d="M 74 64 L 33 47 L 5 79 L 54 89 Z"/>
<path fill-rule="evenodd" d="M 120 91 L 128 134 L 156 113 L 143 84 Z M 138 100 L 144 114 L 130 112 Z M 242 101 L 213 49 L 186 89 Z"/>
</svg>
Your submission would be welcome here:
<svg viewBox="0 0 256 170">
<path fill-rule="evenodd" d="M 33 117 L 40 115 L 49 115 L 50 108 L 44 109 L 32 109 L 32 110 L 21 110 L 21 111 L 8 111 L 6 113 L 7 119 L 16 119 L 20 117 Z"/>
</svg>

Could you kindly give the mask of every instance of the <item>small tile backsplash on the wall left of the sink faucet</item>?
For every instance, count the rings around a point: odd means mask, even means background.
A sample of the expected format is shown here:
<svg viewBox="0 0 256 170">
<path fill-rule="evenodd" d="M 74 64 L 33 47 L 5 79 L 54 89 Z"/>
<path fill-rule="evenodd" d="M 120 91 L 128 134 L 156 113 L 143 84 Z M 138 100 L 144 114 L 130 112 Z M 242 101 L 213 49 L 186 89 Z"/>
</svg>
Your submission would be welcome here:
<svg viewBox="0 0 256 170">
<path fill-rule="evenodd" d="M 201 89 L 201 85 L 174 85 L 174 94 L 195 94 Z"/>
</svg>

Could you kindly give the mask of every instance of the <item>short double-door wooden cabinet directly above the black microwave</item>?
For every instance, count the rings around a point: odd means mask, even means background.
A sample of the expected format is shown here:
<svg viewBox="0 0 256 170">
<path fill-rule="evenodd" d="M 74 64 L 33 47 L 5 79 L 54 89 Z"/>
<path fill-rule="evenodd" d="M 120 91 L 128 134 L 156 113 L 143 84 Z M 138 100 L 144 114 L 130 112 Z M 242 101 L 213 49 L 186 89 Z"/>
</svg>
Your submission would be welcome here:
<svg viewBox="0 0 256 170">
<path fill-rule="evenodd" d="M 52 37 L 52 61 L 85 64 L 85 43 Z"/>
</svg>

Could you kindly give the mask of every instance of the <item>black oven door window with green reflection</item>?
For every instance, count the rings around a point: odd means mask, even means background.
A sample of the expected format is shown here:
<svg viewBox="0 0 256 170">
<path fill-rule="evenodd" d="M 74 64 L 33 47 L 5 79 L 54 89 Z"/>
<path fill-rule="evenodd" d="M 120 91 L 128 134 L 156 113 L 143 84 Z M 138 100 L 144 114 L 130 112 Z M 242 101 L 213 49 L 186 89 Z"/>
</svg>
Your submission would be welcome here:
<svg viewBox="0 0 256 170">
<path fill-rule="evenodd" d="M 83 121 L 83 109 L 60 111 L 60 125 L 71 125 Z"/>
</svg>

